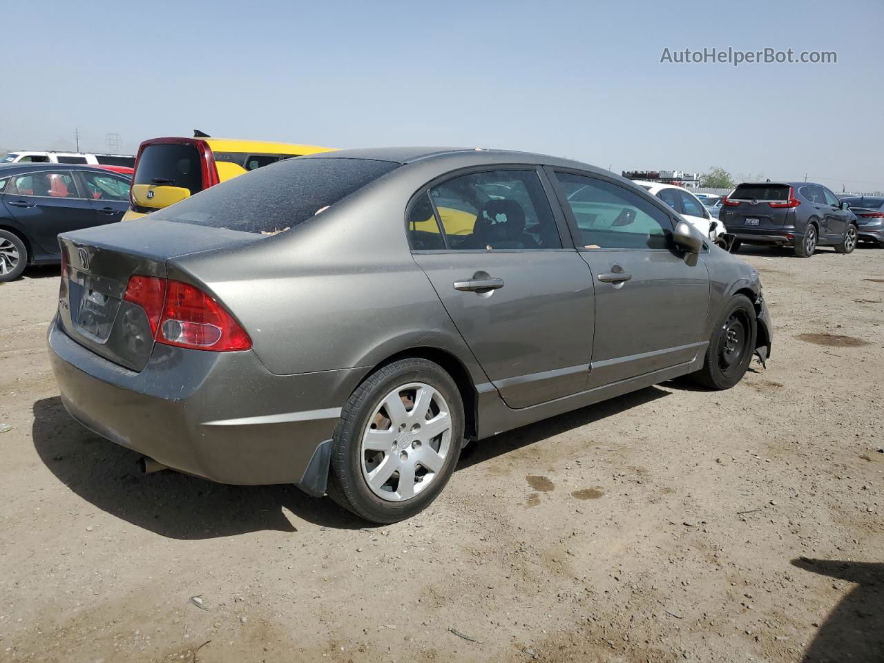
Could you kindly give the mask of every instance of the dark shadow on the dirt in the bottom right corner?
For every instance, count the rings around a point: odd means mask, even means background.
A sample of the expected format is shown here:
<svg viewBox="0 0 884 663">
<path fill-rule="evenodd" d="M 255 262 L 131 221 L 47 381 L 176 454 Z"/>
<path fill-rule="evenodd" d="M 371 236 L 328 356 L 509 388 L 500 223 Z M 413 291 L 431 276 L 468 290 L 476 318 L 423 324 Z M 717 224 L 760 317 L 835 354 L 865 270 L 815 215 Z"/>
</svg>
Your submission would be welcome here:
<svg viewBox="0 0 884 663">
<path fill-rule="evenodd" d="M 792 565 L 857 583 L 820 624 L 804 663 L 884 660 L 884 564 L 802 557 Z"/>
</svg>

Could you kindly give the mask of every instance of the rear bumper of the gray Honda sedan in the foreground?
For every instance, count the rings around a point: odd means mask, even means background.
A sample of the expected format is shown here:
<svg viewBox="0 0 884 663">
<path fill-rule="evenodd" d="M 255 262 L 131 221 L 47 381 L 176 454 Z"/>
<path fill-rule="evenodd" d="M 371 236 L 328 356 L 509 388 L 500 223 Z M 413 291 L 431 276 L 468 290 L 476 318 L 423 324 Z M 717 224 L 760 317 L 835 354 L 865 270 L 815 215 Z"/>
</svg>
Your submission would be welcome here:
<svg viewBox="0 0 884 663">
<path fill-rule="evenodd" d="M 49 350 L 65 408 L 103 438 L 212 481 L 292 483 L 314 493 L 324 491 L 324 443 L 364 373 L 278 376 L 250 351 L 162 345 L 135 373 L 81 347 L 55 323 Z"/>
</svg>

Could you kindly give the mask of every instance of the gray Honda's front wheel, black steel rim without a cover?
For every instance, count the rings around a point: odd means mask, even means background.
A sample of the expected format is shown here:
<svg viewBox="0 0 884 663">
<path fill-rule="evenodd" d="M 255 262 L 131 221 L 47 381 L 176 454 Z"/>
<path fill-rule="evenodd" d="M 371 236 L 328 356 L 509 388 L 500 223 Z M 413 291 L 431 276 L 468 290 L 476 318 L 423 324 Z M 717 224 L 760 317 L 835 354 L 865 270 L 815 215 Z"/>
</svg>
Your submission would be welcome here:
<svg viewBox="0 0 884 663">
<path fill-rule="evenodd" d="M 730 389 L 749 368 L 757 336 L 755 307 L 745 295 L 735 295 L 713 328 L 703 368 L 691 377 L 709 389 Z"/>
</svg>

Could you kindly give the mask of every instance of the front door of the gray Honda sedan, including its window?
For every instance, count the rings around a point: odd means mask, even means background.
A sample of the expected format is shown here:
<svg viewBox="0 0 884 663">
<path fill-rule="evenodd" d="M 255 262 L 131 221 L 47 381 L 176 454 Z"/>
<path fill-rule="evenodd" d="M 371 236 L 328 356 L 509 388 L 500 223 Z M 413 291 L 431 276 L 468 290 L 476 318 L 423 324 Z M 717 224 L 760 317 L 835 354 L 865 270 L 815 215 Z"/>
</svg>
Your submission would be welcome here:
<svg viewBox="0 0 884 663">
<path fill-rule="evenodd" d="M 705 351 L 709 274 L 685 262 L 662 206 L 613 180 L 552 171 L 578 253 L 593 275 L 589 385 L 690 362 Z"/>
</svg>

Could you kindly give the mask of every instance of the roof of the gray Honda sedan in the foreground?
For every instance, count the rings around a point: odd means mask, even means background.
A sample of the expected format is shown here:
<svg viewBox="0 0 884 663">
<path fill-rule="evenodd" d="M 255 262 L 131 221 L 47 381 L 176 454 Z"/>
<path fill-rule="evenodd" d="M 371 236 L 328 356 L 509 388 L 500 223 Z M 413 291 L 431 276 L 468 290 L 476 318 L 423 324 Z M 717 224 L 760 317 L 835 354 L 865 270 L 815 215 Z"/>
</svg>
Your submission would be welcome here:
<svg viewBox="0 0 884 663">
<path fill-rule="evenodd" d="M 337 152 L 324 152 L 322 154 L 301 156 L 301 159 L 370 159 L 373 161 L 389 161 L 395 164 L 415 164 L 431 160 L 450 160 L 461 162 L 462 165 L 475 164 L 543 164 L 560 166 L 563 168 L 576 168 L 582 171 L 604 173 L 610 177 L 613 173 L 597 168 L 590 164 L 561 158 L 537 154 L 535 152 L 520 152 L 508 149 L 484 149 L 484 148 L 451 148 L 451 147 L 394 147 L 394 148 L 362 148 L 340 149 Z M 616 176 L 621 179 L 619 175 Z"/>
</svg>

